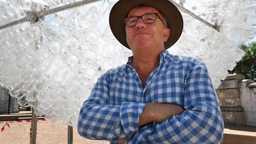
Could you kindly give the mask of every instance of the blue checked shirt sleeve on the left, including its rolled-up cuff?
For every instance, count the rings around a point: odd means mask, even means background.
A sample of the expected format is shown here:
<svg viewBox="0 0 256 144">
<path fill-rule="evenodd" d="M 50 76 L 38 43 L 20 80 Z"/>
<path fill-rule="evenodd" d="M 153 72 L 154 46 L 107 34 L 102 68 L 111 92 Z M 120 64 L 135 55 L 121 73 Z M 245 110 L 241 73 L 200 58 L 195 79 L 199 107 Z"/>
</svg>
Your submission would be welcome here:
<svg viewBox="0 0 256 144">
<path fill-rule="evenodd" d="M 106 73 L 98 79 L 90 97 L 83 103 L 78 118 L 78 133 L 88 139 L 118 141 L 138 131 L 139 116 L 146 103 L 109 105 L 107 77 Z"/>
</svg>

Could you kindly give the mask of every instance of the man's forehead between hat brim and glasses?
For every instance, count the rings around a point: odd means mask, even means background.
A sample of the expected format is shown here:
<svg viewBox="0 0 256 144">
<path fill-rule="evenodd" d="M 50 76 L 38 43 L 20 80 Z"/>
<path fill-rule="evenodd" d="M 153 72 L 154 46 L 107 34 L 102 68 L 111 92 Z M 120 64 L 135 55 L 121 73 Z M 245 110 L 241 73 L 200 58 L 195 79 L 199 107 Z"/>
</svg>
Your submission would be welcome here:
<svg viewBox="0 0 256 144">
<path fill-rule="evenodd" d="M 128 16 L 133 16 L 133 15 L 139 16 L 139 15 L 143 15 L 145 13 L 160 14 L 160 12 L 152 6 L 139 6 L 139 7 L 134 7 L 133 9 L 131 9 Z"/>
</svg>

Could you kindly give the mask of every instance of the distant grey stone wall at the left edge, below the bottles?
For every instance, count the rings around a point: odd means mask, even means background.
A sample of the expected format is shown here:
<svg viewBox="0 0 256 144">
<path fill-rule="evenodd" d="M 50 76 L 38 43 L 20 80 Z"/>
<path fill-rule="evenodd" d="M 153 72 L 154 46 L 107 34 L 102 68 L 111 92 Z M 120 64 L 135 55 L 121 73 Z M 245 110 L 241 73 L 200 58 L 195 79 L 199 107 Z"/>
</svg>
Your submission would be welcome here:
<svg viewBox="0 0 256 144">
<path fill-rule="evenodd" d="M 8 113 L 9 90 L 0 86 L 0 114 Z M 19 113 L 18 100 L 11 97 L 10 113 Z"/>
</svg>

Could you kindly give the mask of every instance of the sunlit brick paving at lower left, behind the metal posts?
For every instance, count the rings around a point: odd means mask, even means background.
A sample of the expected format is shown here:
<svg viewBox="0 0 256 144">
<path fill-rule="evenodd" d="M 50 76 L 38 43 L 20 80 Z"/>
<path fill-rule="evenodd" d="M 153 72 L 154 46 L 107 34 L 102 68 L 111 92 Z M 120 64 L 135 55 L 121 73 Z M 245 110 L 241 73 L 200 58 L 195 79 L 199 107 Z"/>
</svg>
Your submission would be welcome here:
<svg viewBox="0 0 256 144">
<path fill-rule="evenodd" d="M 0 128 L 5 123 L 0 123 Z M 29 144 L 31 122 L 9 123 L 10 129 L 0 132 L 0 144 Z M 37 144 L 67 144 L 67 126 L 49 122 L 37 122 Z M 73 128 L 73 144 L 109 144 L 104 140 L 89 140 L 81 137 Z"/>
</svg>

